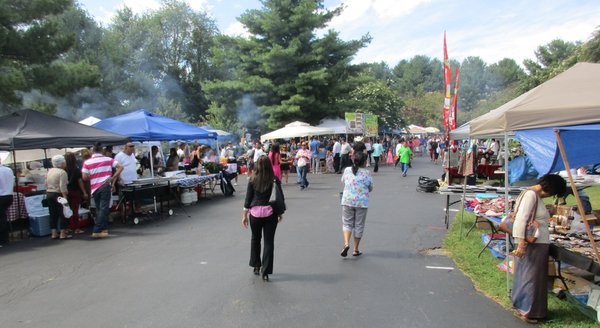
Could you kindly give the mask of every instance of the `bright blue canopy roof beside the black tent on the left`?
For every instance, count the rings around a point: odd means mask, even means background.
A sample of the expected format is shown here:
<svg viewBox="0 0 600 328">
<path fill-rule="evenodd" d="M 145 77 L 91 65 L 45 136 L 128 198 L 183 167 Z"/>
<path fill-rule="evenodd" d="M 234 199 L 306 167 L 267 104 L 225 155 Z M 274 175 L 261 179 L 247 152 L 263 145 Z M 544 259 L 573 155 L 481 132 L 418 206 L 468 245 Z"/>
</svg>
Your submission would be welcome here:
<svg viewBox="0 0 600 328">
<path fill-rule="evenodd" d="M 94 124 L 93 127 L 128 136 L 133 141 L 217 138 L 215 132 L 206 131 L 143 109 L 104 119 Z"/>
</svg>

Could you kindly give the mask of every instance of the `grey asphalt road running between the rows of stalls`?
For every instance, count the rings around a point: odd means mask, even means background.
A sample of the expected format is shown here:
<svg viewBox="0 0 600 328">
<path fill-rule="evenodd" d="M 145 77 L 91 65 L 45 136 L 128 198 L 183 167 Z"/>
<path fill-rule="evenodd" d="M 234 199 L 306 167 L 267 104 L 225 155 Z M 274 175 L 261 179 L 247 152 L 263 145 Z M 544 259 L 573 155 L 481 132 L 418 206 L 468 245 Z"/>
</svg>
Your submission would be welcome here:
<svg viewBox="0 0 600 328">
<path fill-rule="evenodd" d="M 1 327 L 525 327 L 475 291 L 444 256 L 426 256 L 443 229 L 441 196 L 415 191 L 441 173 L 417 157 L 406 178 L 384 167 L 361 249 L 341 258 L 340 175 L 309 175 L 275 238 L 270 282 L 248 266 L 246 177 L 234 197 L 175 208 L 111 237 L 49 238 L 0 248 Z M 189 217 L 187 216 L 189 214 Z"/>
</svg>

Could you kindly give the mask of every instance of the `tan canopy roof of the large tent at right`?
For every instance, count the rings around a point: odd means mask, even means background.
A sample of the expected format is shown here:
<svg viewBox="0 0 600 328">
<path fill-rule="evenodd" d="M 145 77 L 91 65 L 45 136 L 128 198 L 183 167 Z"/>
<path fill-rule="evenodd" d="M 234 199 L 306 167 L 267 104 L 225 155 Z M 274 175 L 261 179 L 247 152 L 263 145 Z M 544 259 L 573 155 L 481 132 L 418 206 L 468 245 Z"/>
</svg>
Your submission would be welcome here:
<svg viewBox="0 0 600 328">
<path fill-rule="evenodd" d="M 600 64 L 578 63 L 471 121 L 471 137 L 588 124 L 600 117 Z"/>
</svg>

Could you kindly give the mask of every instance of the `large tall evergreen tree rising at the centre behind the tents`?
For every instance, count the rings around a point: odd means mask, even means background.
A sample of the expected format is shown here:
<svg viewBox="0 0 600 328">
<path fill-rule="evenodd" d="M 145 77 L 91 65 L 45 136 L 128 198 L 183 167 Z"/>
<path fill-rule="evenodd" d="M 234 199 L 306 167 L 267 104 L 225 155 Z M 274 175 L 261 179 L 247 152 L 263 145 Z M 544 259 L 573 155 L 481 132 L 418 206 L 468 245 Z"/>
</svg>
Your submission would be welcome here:
<svg viewBox="0 0 600 328">
<path fill-rule="evenodd" d="M 324 9 L 323 1 L 265 0 L 262 4 L 262 9 L 239 18 L 250 38 L 229 39 L 233 42 L 227 46 L 235 48 L 239 57 L 221 58 L 236 67 L 231 75 L 240 82 L 239 89 L 228 88 L 229 98 L 236 101 L 223 101 L 222 86 L 230 86 L 228 81 L 207 86 L 215 108 L 236 112 L 240 95 L 245 95 L 265 117 L 254 124 L 270 128 L 292 120 L 316 123 L 339 116 L 344 111 L 339 102 L 354 89 L 353 77 L 360 71 L 350 61 L 370 37 L 346 42 L 329 30 L 317 38 L 316 30 L 341 12 L 341 8 Z"/>
</svg>

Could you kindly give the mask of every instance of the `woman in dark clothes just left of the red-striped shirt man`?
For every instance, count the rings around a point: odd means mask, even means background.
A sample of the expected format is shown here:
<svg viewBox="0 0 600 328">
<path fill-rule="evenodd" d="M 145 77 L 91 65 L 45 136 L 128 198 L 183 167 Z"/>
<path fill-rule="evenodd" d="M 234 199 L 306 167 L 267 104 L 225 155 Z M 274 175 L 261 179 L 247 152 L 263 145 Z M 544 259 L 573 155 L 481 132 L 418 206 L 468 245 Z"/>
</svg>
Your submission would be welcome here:
<svg viewBox="0 0 600 328">
<path fill-rule="evenodd" d="M 69 207 L 73 211 L 73 216 L 69 219 L 69 229 L 76 234 L 83 233 L 79 226 L 79 206 L 82 199 L 88 198 L 88 193 L 81 178 L 81 168 L 77 165 L 77 158 L 73 153 L 66 153 L 67 162 L 67 190 L 69 191 Z"/>
</svg>

